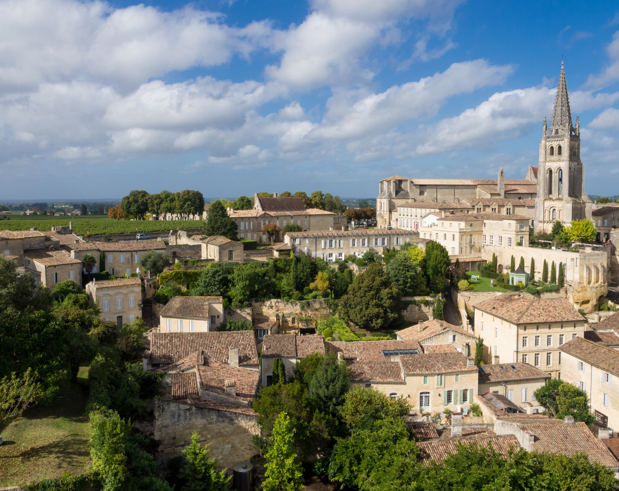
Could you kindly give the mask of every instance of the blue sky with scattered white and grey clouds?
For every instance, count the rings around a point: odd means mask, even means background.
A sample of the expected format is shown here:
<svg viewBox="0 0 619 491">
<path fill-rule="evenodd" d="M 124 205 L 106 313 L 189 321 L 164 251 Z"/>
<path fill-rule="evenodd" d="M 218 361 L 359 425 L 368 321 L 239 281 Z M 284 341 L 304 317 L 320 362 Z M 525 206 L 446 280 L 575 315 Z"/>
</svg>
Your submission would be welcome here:
<svg viewBox="0 0 619 491">
<path fill-rule="evenodd" d="M 561 56 L 619 194 L 617 2 L 0 1 L 0 200 L 522 179 Z"/>
</svg>

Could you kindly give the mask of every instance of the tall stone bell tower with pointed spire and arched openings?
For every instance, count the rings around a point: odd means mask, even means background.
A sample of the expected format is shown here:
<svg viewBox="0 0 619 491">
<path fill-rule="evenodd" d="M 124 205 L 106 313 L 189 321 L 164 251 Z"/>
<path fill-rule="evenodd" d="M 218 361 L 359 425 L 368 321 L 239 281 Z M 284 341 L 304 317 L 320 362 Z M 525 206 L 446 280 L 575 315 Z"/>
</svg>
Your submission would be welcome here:
<svg viewBox="0 0 619 491">
<path fill-rule="evenodd" d="M 568 87 L 561 61 L 555 107 L 550 127 L 544 117 L 537 171 L 535 228 L 549 232 L 555 221 L 591 219 L 591 200 L 584 192 L 584 165 L 580 156 L 580 122 L 572 124 Z"/>
</svg>

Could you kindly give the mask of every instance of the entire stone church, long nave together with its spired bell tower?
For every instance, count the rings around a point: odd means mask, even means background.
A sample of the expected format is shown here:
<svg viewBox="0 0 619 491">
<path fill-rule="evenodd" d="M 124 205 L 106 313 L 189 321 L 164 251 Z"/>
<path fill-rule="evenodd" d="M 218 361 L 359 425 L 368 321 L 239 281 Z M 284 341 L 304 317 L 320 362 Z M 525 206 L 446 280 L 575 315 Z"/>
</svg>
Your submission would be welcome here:
<svg viewBox="0 0 619 491">
<path fill-rule="evenodd" d="M 509 200 L 532 220 L 536 229 L 550 231 L 555 221 L 569 224 L 573 220 L 591 218 L 592 203 L 584 192 L 584 165 L 580 155 L 580 123 L 572 124 L 565 70 L 556 92 L 550 127 L 544 119 L 537 167 L 529 166 L 524 179 L 505 179 L 499 169 L 497 179 L 410 179 L 387 177 L 379 182 L 376 199 L 377 225 L 381 228 L 399 225 L 398 209 L 411 202 L 461 203 L 475 207 L 507 207 L 475 200 Z M 535 200 L 535 201 L 533 201 Z M 522 205 L 524 204 L 524 210 Z M 514 206 L 518 204 L 518 206 Z M 507 213 L 506 211 L 504 211 Z"/>
</svg>

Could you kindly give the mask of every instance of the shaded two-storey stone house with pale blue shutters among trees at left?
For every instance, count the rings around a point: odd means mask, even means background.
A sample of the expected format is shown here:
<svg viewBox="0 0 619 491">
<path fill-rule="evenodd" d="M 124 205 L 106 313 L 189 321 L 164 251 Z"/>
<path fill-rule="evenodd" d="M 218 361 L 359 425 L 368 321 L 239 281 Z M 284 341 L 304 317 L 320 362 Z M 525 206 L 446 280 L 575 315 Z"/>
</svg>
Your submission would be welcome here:
<svg viewBox="0 0 619 491">
<path fill-rule="evenodd" d="M 99 318 L 116 322 L 132 323 L 142 317 L 142 281 L 140 278 L 117 278 L 116 280 L 92 280 L 86 285 L 86 294 L 100 310 Z"/>
</svg>

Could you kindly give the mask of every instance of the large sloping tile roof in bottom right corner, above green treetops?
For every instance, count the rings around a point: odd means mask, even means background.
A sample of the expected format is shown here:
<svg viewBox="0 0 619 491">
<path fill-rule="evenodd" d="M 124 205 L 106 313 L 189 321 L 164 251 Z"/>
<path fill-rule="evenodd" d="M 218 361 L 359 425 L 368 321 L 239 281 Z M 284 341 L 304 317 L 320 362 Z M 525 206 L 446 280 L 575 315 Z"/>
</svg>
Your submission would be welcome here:
<svg viewBox="0 0 619 491">
<path fill-rule="evenodd" d="M 619 468 L 619 462 L 584 422 L 566 423 L 558 419 L 518 422 L 521 429 L 535 435 L 532 448 L 539 452 L 574 455 L 586 453 L 591 463 Z"/>
</svg>

